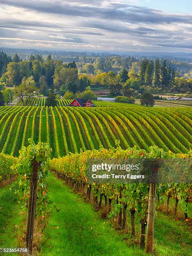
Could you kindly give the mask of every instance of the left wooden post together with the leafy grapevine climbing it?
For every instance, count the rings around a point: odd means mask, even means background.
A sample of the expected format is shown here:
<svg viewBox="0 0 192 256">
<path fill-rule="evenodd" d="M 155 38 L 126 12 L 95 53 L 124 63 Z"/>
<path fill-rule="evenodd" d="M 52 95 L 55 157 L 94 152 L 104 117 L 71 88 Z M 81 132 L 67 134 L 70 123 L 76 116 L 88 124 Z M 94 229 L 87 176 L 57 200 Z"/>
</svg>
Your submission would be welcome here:
<svg viewBox="0 0 192 256">
<path fill-rule="evenodd" d="M 18 192 L 24 200 L 25 206 L 28 207 L 26 247 L 29 254 L 32 255 L 35 216 L 45 216 L 49 202 L 46 191 L 51 148 L 48 143 L 39 142 L 36 145 L 31 138 L 28 139 L 28 142 L 27 148 L 21 148 L 13 169 L 19 175 Z"/>
</svg>

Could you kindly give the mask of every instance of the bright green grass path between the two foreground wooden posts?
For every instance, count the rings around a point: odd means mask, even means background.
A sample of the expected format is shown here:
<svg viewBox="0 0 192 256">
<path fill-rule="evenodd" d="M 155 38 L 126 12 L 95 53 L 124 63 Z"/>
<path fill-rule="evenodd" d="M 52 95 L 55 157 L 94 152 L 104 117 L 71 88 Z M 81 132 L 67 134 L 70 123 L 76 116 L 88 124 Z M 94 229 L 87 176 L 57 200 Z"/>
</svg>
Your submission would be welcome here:
<svg viewBox="0 0 192 256">
<path fill-rule="evenodd" d="M 139 248 L 128 247 L 109 221 L 100 219 L 64 181 L 51 174 L 48 186 L 49 197 L 60 211 L 51 214 L 40 255 L 145 255 Z"/>
</svg>

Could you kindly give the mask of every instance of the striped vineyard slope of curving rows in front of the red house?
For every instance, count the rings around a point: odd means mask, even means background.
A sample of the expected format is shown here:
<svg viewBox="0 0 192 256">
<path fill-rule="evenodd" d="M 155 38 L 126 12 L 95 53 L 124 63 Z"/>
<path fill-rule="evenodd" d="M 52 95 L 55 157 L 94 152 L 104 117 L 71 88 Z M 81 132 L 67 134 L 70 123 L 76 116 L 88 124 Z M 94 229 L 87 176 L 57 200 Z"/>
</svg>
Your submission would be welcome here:
<svg viewBox="0 0 192 256">
<path fill-rule="evenodd" d="M 81 148 L 112 148 L 116 140 L 123 149 L 148 151 L 156 145 L 187 153 L 192 148 L 192 115 L 190 108 L 1 107 L 0 152 L 18 156 L 28 138 L 50 143 L 52 158 Z"/>
</svg>

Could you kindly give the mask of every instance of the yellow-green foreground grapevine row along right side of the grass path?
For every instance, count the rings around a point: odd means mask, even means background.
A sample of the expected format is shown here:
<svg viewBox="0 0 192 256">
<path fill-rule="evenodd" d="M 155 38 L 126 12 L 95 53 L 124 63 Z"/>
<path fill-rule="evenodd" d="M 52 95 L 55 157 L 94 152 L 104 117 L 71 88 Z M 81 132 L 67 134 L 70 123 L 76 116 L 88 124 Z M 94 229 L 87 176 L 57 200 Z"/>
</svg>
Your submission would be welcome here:
<svg viewBox="0 0 192 256">
<path fill-rule="evenodd" d="M 117 148 L 106 150 L 85 151 L 80 154 L 72 154 L 59 159 L 51 160 L 51 170 L 56 172 L 58 177 L 64 179 L 72 187 L 77 189 L 87 189 L 87 197 L 91 198 L 91 193 L 94 197 L 95 204 L 100 209 L 102 206 L 102 199 L 105 201 L 105 207 L 108 210 L 109 218 L 118 216 L 118 226 L 125 229 L 127 223 L 127 212 L 131 213 L 130 226 L 131 236 L 135 236 L 135 218 L 138 214 L 141 218 L 141 247 L 145 246 L 145 228 L 147 225 L 147 213 L 149 204 L 149 184 L 148 183 L 104 183 L 95 184 L 95 182 L 87 182 L 87 159 L 120 159 L 128 158 L 192 158 L 192 152 L 187 154 L 174 154 L 164 151 L 157 146 L 151 146 L 149 151 L 138 150 L 135 148 L 128 148 L 122 150 L 117 145 Z M 157 184 L 157 197 L 167 195 L 166 212 L 169 212 L 169 200 L 172 197 L 175 200 L 174 215 L 177 215 L 178 202 L 182 207 L 185 219 L 188 218 L 188 202 L 192 199 L 192 184 Z M 141 214 L 142 213 L 142 214 Z"/>
</svg>

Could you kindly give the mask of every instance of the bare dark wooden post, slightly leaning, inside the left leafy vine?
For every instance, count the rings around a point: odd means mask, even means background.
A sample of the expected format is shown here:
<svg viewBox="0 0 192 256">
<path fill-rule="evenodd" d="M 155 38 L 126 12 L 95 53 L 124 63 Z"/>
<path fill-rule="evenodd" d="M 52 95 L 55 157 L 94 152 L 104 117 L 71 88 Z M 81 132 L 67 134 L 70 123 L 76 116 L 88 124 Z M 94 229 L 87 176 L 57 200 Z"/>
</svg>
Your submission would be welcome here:
<svg viewBox="0 0 192 256">
<path fill-rule="evenodd" d="M 32 167 L 31 167 L 31 184 L 30 184 L 27 230 L 26 230 L 26 246 L 30 254 L 32 254 L 33 252 L 33 231 L 34 231 L 36 199 L 37 199 L 38 169 L 39 169 L 39 163 L 35 159 L 33 159 Z"/>
</svg>

